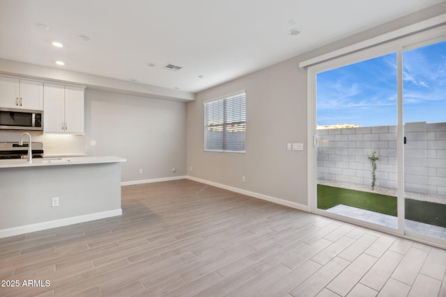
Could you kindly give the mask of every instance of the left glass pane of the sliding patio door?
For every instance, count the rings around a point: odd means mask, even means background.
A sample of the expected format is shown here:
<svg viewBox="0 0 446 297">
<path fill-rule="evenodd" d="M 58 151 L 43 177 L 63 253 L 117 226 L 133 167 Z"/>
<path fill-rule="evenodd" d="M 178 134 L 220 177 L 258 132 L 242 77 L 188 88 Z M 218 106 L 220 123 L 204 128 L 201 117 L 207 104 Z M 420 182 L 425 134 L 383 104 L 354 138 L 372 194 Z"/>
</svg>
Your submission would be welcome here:
<svg viewBox="0 0 446 297">
<path fill-rule="evenodd" d="M 396 229 L 397 53 L 316 74 L 317 208 Z"/>
</svg>

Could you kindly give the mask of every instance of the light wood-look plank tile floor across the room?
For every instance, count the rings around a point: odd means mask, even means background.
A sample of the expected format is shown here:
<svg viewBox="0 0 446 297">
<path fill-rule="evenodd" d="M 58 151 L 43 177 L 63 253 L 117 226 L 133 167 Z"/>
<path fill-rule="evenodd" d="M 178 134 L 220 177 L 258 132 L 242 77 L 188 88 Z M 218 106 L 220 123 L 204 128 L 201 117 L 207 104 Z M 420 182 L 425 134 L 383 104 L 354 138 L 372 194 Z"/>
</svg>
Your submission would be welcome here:
<svg viewBox="0 0 446 297">
<path fill-rule="evenodd" d="M 0 239 L 0 296 L 446 296 L 446 250 L 186 179 L 122 192 Z"/>
</svg>

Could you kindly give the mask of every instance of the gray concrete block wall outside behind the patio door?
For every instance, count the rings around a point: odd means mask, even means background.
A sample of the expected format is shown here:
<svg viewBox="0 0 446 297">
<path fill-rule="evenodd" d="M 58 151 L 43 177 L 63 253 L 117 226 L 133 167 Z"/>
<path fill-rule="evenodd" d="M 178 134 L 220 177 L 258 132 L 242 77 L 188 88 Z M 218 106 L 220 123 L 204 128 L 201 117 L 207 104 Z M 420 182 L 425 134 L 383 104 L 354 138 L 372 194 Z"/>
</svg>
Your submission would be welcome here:
<svg viewBox="0 0 446 297">
<path fill-rule="evenodd" d="M 406 191 L 446 195 L 446 122 L 404 127 Z M 371 186 L 376 151 L 376 186 L 397 188 L 397 127 L 319 129 L 317 177 Z"/>
</svg>

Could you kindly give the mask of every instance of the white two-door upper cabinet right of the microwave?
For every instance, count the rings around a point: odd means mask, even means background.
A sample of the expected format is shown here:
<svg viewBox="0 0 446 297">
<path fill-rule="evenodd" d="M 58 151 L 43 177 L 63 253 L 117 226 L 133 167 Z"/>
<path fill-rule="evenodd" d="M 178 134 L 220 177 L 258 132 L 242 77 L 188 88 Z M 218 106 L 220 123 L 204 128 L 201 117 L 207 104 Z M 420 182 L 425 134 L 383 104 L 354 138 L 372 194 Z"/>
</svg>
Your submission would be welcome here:
<svg viewBox="0 0 446 297">
<path fill-rule="evenodd" d="M 84 88 L 45 83 L 43 132 L 84 134 Z"/>
</svg>

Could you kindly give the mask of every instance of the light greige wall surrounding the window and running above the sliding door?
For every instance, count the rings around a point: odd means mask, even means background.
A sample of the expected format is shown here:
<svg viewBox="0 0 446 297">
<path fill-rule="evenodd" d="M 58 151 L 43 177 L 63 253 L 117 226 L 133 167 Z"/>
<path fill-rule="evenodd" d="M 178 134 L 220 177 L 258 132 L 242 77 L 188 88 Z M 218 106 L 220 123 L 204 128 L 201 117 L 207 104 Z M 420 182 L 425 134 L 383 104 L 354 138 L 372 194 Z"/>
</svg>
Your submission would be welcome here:
<svg viewBox="0 0 446 297">
<path fill-rule="evenodd" d="M 435 17 L 445 10 L 446 3 L 440 3 L 198 93 L 196 102 L 187 103 L 187 174 L 307 204 L 307 70 L 300 69 L 298 63 Z M 238 90 L 247 93 L 246 153 L 204 152 L 203 102 Z M 289 151 L 286 143 L 303 143 L 305 149 Z M 243 175 L 246 182 L 242 182 Z"/>
</svg>

